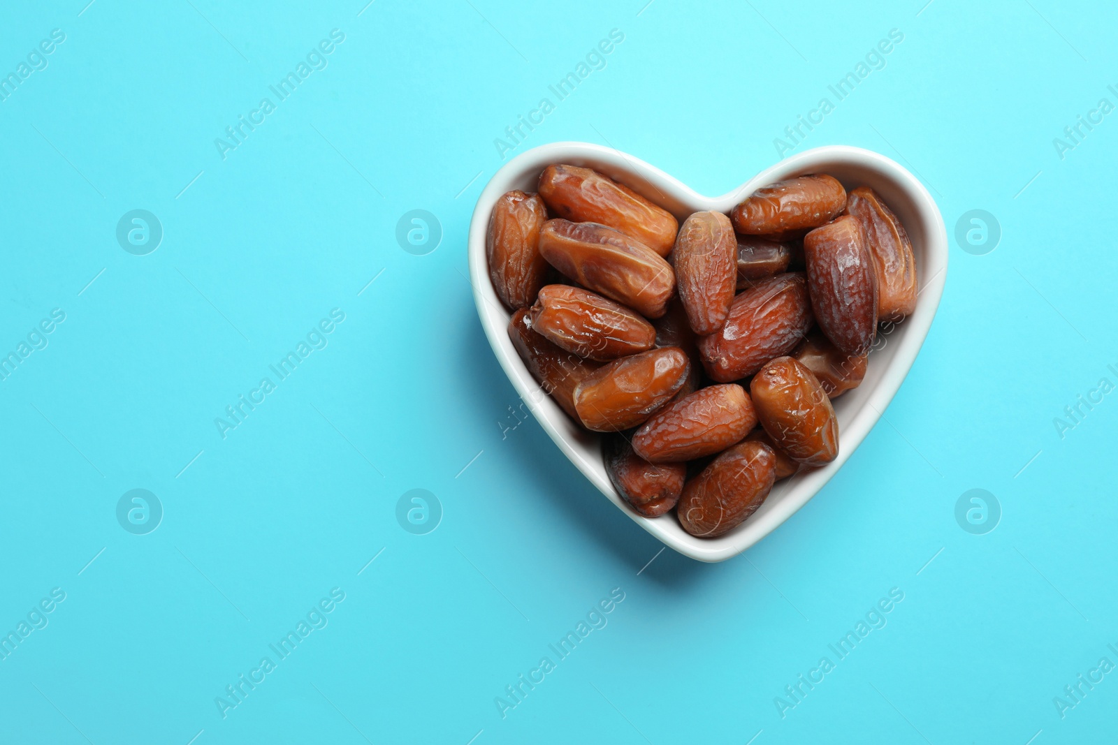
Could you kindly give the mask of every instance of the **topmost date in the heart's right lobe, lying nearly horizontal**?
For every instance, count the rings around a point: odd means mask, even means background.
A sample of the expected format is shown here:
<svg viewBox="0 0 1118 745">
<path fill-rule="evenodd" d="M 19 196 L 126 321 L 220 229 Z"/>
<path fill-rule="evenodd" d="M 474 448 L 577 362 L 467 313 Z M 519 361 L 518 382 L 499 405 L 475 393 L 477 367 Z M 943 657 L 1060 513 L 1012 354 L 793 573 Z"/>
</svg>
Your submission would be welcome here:
<svg viewBox="0 0 1118 745">
<path fill-rule="evenodd" d="M 546 199 L 546 198 L 544 198 Z M 733 208 L 738 232 L 747 236 L 785 233 L 826 225 L 846 206 L 846 190 L 826 174 L 804 175 L 758 189 Z"/>
</svg>

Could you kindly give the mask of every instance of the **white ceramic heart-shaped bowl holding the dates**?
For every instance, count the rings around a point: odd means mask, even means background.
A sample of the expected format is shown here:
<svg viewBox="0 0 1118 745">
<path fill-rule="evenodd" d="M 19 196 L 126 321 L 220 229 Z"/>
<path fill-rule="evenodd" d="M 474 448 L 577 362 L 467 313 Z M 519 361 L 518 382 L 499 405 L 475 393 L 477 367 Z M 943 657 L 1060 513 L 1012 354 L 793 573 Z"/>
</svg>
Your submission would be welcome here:
<svg viewBox="0 0 1118 745">
<path fill-rule="evenodd" d="M 911 316 L 891 327 L 879 328 L 862 384 L 835 400 L 840 433 L 835 460 L 777 481 L 765 504 L 749 519 L 717 538 L 690 535 L 680 527 L 674 514 L 647 518 L 628 508 L 606 474 L 603 436 L 571 421 L 517 354 L 508 333 L 511 314 L 501 304 L 489 277 L 485 233 L 493 204 L 512 189 L 534 192 L 540 172 L 551 163 L 581 165 L 605 173 L 675 214 L 681 225 L 692 212 L 728 213 L 755 190 L 808 173 L 828 173 L 847 190 L 871 187 L 884 199 L 912 240 L 921 289 Z M 498 361 L 559 449 L 618 509 L 665 545 L 699 561 L 720 562 L 754 545 L 807 504 L 877 423 L 912 366 L 936 315 L 947 278 L 947 232 L 936 202 L 911 173 L 884 155 L 860 147 L 828 145 L 808 150 L 761 171 L 729 193 L 703 197 L 660 169 L 616 150 L 584 142 L 558 142 L 518 155 L 490 179 L 470 223 L 470 276 L 477 315 Z"/>
</svg>

